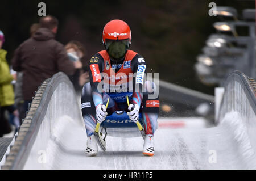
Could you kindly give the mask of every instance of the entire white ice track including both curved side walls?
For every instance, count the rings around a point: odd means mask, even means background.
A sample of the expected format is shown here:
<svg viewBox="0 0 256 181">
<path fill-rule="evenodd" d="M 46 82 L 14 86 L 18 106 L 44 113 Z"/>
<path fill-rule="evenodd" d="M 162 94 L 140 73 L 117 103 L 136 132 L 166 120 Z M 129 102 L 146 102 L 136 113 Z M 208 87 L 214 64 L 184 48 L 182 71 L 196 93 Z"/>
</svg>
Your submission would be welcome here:
<svg viewBox="0 0 256 181">
<path fill-rule="evenodd" d="M 240 72 L 230 75 L 216 126 L 201 117 L 160 118 L 154 157 L 142 154 L 142 137 L 111 136 L 105 152 L 98 148 L 96 157 L 86 157 L 80 105 L 67 76 L 56 74 L 36 94 L 1 169 L 256 169 L 250 80 Z"/>
</svg>

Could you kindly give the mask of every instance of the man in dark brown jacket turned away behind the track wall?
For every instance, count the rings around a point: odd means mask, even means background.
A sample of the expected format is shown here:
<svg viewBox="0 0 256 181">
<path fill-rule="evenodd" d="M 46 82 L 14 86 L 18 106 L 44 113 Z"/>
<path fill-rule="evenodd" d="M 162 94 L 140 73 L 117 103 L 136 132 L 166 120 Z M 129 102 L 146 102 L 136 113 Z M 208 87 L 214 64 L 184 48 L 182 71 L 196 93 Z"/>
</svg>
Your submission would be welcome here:
<svg viewBox="0 0 256 181">
<path fill-rule="evenodd" d="M 15 50 L 12 60 L 13 70 L 23 72 L 22 94 L 25 112 L 32 102 L 38 86 L 59 71 L 72 75 L 77 68 L 69 60 L 64 45 L 56 41 L 58 20 L 44 16 L 39 20 L 40 28 Z"/>
</svg>

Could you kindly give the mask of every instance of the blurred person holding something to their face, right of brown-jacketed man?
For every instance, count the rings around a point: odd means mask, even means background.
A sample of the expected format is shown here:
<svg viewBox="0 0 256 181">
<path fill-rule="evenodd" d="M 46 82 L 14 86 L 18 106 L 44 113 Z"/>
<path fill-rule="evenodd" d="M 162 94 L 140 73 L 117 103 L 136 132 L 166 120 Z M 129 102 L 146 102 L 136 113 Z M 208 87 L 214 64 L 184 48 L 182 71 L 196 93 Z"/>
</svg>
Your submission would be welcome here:
<svg viewBox="0 0 256 181">
<path fill-rule="evenodd" d="M 77 64 L 80 64 L 79 68 L 76 69 L 75 74 L 69 76 L 76 92 L 80 93 L 85 82 L 89 82 L 89 73 L 84 72 L 82 69 L 84 65 L 82 65 L 81 62 L 81 59 L 85 56 L 85 48 L 79 41 L 69 41 L 69 43 L 65 45 L 65 49 L 67 50 L 69 59 L 71 61 L 77 61 Z"/>
</svg>

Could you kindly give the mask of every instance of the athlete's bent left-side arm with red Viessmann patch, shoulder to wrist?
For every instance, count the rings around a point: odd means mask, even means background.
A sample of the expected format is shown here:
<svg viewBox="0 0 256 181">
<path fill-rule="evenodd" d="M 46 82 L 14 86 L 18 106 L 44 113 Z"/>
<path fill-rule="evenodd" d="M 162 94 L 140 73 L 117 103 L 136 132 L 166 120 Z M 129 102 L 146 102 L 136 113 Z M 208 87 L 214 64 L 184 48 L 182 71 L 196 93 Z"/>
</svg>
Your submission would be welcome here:
<svg viewBox="0 0 256 181">
<path fill-rule="evenodd" d="M 90 86 L 92 87 L 92 96 L 93 96 L 93 102 L 95 107 L 98 106 L 98 104 L 103 104 L 102 100 L 102 92 L 100 92 L 97 87 L 98 83 L 101 82 L 101 75 L 100 73 L 104 69 L 104 60 L 101 57 L 100 54 L 96 54 L 90 59 L 89 63 L 89 77 L 90 77 Z"/>
</svg>

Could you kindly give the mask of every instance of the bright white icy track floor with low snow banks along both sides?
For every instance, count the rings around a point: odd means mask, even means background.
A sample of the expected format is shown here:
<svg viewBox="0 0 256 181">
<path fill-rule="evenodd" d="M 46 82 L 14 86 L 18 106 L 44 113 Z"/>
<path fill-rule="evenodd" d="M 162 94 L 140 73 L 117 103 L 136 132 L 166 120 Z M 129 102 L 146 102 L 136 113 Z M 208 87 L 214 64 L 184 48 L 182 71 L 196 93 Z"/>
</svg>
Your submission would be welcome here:
<svg viewBox="0 0 256 181">
<path fill-rule="evenodd" d="M 195 125 L 189 123 L 192 120 Z M 167 121 L 159 119 L 154 157 L 143 156 L 142 137 L 110 136 L 106 138 L 105 152 L 99 148 L 96 157 L 86 157 L 85 128 L 79 121 L 61 117 L 61 121 L 55 125 L 51 140 L 48 140 L 46 162 L 39 164 L 28 161 L 24 169 L 256 168 L 254 151 L 236 112 L 227 114 L 220 125 L 212 128 L 205 128 L 202 119 L 173 119 L 169 120 L 170 124 L 166 124 Z M 172 128 L 174 122 L 184 122 L 174 124 L 183 127 Z M 216 153 L 216 159 L 210 162 L 213 153 Z"/>
</svg>

